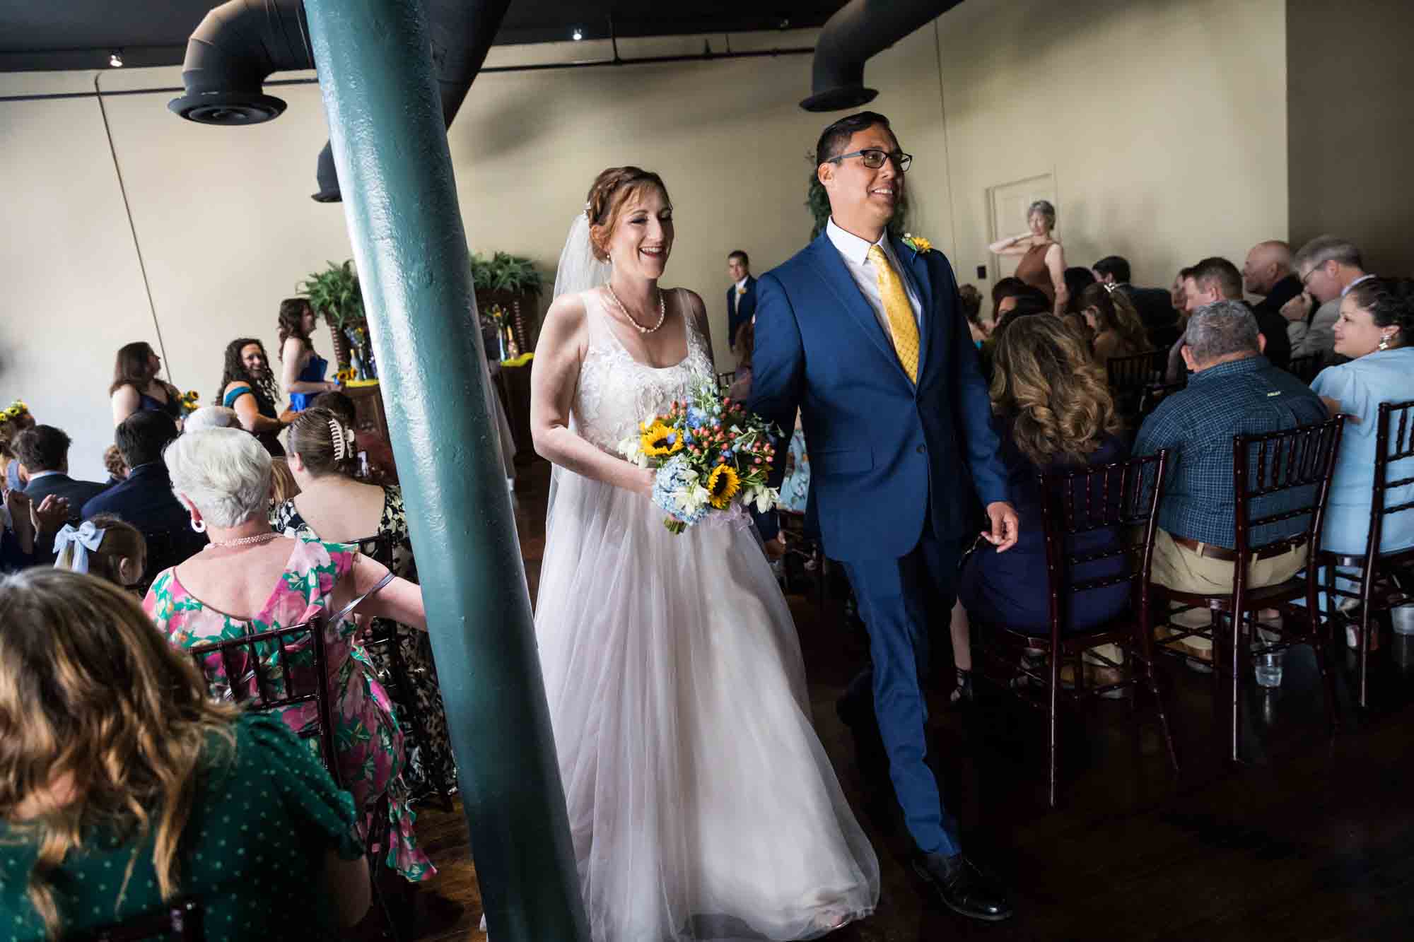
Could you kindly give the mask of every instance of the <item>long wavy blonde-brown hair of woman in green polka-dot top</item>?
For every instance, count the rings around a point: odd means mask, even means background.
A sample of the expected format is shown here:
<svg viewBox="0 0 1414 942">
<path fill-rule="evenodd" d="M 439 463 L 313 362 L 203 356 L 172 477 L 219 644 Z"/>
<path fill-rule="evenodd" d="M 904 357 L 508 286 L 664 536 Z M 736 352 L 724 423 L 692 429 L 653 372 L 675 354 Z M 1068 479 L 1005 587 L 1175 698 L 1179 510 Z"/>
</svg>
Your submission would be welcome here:
<svg viewBox="0 0 1414 942">
<path fill-rule="evenodd" d="M 177 898 L 182 830 L 202 772 L 235 748 L 235 707 L 209 700 L 137 601 L 93 576 L 0 578 L 0 819 L 38 847 L 28 895 L 49 938 L 62 935 L 52 874 L 96 826 L 139 842 L 156 829 L 158 890 Z"/>
</svg>

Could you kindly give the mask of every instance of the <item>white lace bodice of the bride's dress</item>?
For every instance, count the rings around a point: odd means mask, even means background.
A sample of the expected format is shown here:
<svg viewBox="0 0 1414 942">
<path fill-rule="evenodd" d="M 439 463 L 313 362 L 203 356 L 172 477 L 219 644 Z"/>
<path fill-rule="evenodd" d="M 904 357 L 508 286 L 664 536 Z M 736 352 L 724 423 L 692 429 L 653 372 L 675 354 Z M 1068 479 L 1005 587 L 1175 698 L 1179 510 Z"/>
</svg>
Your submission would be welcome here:
<svg viewBox="0 0 1414 942">
<path fill-rule="evenodd" d="M 711 380 L 706 338 L 687 313 L 683 290 L 674 289 L 677 310 L 684 313 L 687 358 L 676 366 L 649 366 L 633 359 L 609 327 L 598 291 L 585 291 L 584 313 L 588 349 L 580 365 L 571 413 L 574 429 L 585 441 L 618 455 L 618 443 L 638 431 L 649 416 L 666 412 L 674 399 L 703 380 Z"/>
</svg>

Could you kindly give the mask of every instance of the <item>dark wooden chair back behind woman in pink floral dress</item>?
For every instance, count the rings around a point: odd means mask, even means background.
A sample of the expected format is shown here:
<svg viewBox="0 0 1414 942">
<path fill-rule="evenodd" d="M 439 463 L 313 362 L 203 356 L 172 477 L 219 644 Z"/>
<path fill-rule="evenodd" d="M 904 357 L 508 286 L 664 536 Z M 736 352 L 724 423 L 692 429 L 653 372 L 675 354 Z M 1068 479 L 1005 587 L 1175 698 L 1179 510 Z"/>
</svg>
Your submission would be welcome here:
<svg viewBox="0 0 1414 942">
<path fill-rule="evenodd" d="M 286 628 L 194 645 L 187 653 L 206 678 L 211 696 L 216 700 L 232 700 L 259 713 L 314 703 L 318 721 L 300 730 L 298 735 L 320 738 L 324 765 L 334 781 L 341 782 L 327 689 L 328 658 L 324 651 L 322 615 Z M 225 670 L 225 685 L 211 675 L 212 659 Z"/>
</svg>

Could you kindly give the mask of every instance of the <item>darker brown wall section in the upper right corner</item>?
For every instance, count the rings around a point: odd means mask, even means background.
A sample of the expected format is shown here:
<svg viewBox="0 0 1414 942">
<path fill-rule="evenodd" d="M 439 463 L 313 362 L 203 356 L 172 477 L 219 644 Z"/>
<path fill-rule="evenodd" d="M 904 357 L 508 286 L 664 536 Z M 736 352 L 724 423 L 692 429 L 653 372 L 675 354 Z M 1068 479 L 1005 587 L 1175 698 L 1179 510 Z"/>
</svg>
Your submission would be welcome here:
<svg viewBox="0 0 1414 942">
<path fill-rule="evenodd" d="M 1372 272 L 1414 273 L 1414 4 L 1287 4 L 1294 245 L 1353 239 Z"/>
</svg>

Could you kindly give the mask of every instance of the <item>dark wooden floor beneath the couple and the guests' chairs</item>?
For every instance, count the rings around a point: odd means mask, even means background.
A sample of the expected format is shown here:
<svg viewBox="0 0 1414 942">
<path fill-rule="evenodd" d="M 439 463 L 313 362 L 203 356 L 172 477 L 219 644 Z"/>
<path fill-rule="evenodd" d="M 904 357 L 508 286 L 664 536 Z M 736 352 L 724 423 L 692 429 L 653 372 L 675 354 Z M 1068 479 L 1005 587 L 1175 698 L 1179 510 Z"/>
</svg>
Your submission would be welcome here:
<svg viewBox="0 0 1414 942">
<path fill-rule="evenodd" d="M 539 577 L 547 472 L 523 470 L 518 525 L 532 593 Z M 1386 634 L 1372 709 L 1339 666 L 1340 728 L 1329 728 L 1315 661 L 1288 652 L 1282 686 L 1249 685 L 1243 767 L 1223 761 L 1212 680 L 1161 665 L 1184 774 L 1162 754 L 1148 700 L 1106 702 L 1062 727 L 1062 805 L 1044 791 L 1038 714 L 990 694 L 963 714 L 936 670 L 929 731 L 945 799 L 969 853 L 1012 888 L 1017 917 L 974 924 L 929 901 L 906 864 L 892 795 L 868 792 L 834 700 L 864 659 L 864 639 L 813 598 L 790 597 L 810 675 L 816 727 L 874 840 L 878 912 L 833 942 L 933 939 L 1408 939 L 1414 938 L 1414 638 Z M 937 656 L 946 665 L 946 632 Z M 424 809 L 417 830 L 441 873 L 416 894 L 404 938 L 482 939 L 481 898 L 460 808 Z"/>
</svg>

